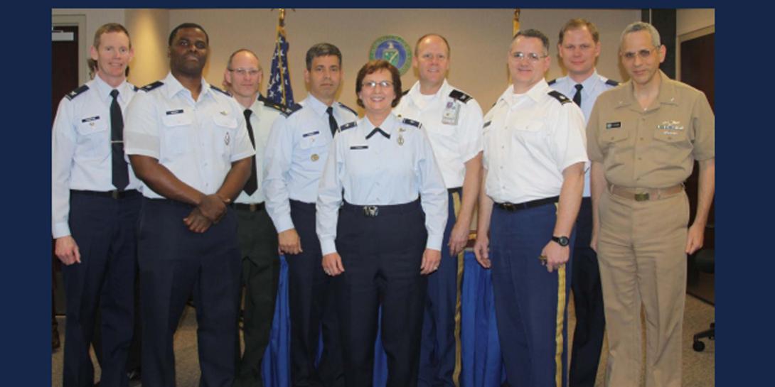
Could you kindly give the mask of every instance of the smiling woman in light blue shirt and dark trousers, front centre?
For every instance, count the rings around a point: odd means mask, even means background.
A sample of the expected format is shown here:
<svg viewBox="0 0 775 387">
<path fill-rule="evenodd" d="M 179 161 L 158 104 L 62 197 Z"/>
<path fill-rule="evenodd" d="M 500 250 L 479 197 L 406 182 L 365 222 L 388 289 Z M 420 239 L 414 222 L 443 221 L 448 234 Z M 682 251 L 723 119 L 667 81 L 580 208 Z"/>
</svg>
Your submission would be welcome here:
<svg viewBox="0 0 775 387">
<path fill-rule="evenodd" d="M 427 279 L 441 257 L 447 194 L 422 125 L 391 109 L 401 77 L 385 60 L 361 67 L 366 115 L 339 127 L 317 202 L 323 269 L 336 276 L 346 385 L 372 385 L 377 314 L 387 386 L 417 385 Z"/>
</svg>

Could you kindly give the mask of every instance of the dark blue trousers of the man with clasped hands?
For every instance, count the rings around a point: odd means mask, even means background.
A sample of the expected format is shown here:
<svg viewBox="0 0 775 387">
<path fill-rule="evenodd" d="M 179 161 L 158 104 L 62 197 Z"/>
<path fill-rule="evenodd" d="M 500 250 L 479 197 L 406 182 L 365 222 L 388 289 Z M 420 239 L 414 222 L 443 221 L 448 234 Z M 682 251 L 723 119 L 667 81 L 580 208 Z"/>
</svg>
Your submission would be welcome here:
<svg viewBox="0 0 775 387">
<path fill-rule="evenodd" d="M 138 260 L 143 309 L 143 385 L 174 387 L 173 337 L 188 296 L 197 317 L 200 387 L 231 387 L 236 365 L 241 259 L 237 224 L 227 210 L 202 234 L 183 218 L 194 207 L 145 199 L 140 212 Z"/>
</svg>

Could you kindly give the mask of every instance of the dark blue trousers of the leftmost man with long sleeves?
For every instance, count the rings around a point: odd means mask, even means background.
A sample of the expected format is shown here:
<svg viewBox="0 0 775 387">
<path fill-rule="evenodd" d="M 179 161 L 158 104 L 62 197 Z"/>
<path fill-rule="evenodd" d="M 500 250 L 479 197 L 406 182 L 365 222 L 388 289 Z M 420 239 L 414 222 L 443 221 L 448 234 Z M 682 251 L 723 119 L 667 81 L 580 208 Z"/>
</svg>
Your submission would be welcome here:
<svg viewBox="0 0 775 387">
<path fill-rule="evenodd" d="M 69 224 L 81 263 L 62 265 L 67 297 L 64 387 L 91 387 L 89 345 L 95 313 L 102 311 L 101 385 L 126 387 L 132 341 L 136 227 L 141 197 L 135 190 L 114 199 L 105 193 L 71 191 Z"/>
</svg>

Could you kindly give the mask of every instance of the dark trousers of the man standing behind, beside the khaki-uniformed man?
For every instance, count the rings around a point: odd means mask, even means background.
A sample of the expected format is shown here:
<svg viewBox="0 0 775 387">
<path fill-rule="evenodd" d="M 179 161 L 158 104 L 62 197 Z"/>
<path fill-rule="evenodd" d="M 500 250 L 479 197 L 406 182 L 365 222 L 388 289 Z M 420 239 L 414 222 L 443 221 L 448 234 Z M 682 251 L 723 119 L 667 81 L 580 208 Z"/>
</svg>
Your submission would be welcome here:
<svg viewBox="0 0 775 387">
<path fill-rule="evenodd" d="M 605 308 L 598 254 L 589 246 L 592 237 L 592 203 L 581 201 L 576 218 L 573 279 L 576 328 L 570 351 L 570 387 L 594 387 L 605 335 Z"/>
</svg>

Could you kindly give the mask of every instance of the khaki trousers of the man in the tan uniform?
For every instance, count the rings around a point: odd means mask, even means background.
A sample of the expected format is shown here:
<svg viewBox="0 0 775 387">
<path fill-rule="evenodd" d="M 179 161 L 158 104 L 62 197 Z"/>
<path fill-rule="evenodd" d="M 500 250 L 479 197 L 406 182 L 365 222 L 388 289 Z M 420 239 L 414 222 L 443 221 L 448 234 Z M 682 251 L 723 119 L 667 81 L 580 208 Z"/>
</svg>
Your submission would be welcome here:
<svg viewBox="0 0 775 387">
<path fill-rule="evenodd" d="M 605 385 L 638 386 L 641 306 L 646 313 L 646 387 L 680 387 L 689 202 L 685 191 L 636 201 L 605 191 L 598 260 L 608 329 Z"/>
</svg>

